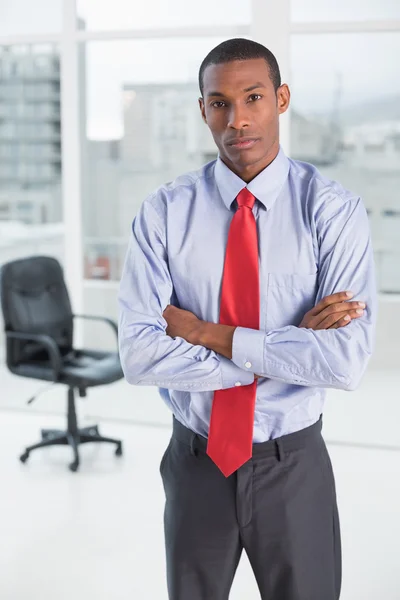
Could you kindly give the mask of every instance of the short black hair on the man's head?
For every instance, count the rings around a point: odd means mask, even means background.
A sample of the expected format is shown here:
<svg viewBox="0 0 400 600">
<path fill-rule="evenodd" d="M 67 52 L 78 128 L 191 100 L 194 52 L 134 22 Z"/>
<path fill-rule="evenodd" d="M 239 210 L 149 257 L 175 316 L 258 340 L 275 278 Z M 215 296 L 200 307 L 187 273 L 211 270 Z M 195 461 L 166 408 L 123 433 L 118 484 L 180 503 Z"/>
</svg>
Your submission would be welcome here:
<svg viewBox="0 0 400 600">
<path fill-rule="evenodd" d="M 281 73 L 279 70 L 278 61 L 268 48 L 245 38 L 232 38 L 226 40 L 218 46 L 215 46 L 207 54 L 200 65 L 199 70 L 199 87 L 203 96 L 204 88 L 204 71 L 210 65 L 220 65 L 234 60 L 251 60 L 253 58 L 263 58 L 269 67 L 271 81 L 274 85 L 275 92 L 281 85 Z"/>
</svg>

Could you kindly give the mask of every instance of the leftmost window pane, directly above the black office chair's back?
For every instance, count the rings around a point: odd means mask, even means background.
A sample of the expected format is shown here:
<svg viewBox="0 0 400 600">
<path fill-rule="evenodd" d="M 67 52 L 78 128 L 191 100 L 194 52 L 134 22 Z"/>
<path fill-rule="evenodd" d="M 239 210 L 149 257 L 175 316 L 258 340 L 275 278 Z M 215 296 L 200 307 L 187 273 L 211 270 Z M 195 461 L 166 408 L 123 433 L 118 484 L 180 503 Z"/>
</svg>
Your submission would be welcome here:
<svg viewBox="0 0 400 600">
<path fill-rule="evenodd" d="M 62 255 L 60 56 L 0 46 L 0 264 Z"/>
</svg>

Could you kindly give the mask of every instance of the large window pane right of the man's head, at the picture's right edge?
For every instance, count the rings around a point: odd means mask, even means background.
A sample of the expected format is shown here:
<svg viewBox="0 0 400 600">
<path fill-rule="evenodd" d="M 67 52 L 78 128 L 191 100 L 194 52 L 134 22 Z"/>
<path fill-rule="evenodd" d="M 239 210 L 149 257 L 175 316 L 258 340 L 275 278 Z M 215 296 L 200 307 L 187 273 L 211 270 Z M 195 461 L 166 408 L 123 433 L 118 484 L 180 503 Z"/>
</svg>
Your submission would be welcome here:
<svg viewBox="0 0 400 600">
<path fill-rule="evenodd" d="M 379 287 L 400 292 L 400 34 L 293 36 L 291 54 L 291 155 L 362 196 Z"/>
</svg>

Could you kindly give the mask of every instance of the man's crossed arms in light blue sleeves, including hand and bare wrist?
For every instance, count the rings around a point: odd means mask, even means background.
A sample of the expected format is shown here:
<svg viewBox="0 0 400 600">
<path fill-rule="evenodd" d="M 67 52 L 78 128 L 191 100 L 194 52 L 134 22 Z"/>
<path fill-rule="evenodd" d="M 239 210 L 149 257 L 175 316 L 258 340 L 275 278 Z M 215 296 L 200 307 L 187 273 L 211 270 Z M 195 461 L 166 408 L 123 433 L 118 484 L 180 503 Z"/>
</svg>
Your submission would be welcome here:
<svg viewBox="0 0 400 600">
<path fill-rule="evenodd" d="M 151 210 L 143 205 L 134 221 L 120 286 L 120 356 L 128 382 L 211 391 L 236 381 L 252 383 L 256 375 L 305 386 L 358 387 L 372 353 L 376 318 L 372 247 L 361 201 L 346 202 L 321 220 L 314 309 L 298 327 L 269 332 L 198 322 L 192 313 L 169 306 L 173 287 L 165 232 Z M 366 304 L 362 315 L 343 296 L 327 298 L 342 290 Z"/>
</svg>

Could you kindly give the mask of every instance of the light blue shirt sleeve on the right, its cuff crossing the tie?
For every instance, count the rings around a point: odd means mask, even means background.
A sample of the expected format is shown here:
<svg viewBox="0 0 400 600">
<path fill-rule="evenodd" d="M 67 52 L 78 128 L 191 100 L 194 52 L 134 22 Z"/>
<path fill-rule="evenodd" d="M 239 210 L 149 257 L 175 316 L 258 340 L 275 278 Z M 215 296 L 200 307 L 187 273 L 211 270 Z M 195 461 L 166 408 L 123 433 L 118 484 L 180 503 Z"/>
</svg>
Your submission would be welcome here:
<svg viewBox="0 0 400 600">
<path fill-rule="evenodd" d="M 318 293 L 350 290 L 351 301 L 366 303 L 364 315 L 339 329 L 314 331 L 293 325 L 269 332 L 238 327 L 233 362 L 263 377 L 297 385 L 354 390 L 375 344 L 377 292 L 369 219 L 360 198 L 322 212 L 316 223 L 319 244 Z M 250 365 L 250 366 L 249 366 Z"/>
</svg>

